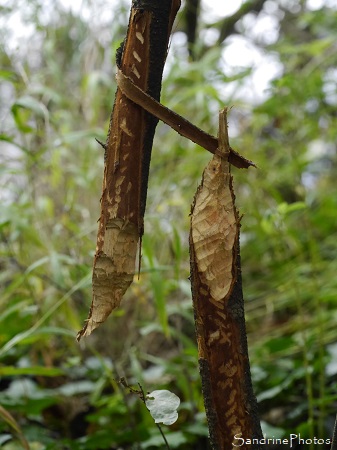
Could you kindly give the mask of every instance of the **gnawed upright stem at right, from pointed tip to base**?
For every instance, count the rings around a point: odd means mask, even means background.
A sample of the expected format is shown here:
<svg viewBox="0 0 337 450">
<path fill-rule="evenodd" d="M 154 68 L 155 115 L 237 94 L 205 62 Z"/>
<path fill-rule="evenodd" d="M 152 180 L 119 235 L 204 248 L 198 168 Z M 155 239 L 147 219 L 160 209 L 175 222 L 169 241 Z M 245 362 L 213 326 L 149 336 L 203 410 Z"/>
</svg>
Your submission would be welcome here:
<svg viewBox="0 0 337 450">
<path fill-rule="evenodd" d="M 229 156 L 226 110 L 219 149 Z M 253 394 L 239 258 L 240 219 L 225 158 L 207 165 L 191 213 L 191 283 L 199 367 L 213 449 L 257 449 L 262 438 Z M 237 439 L 235 439 L 237 438 Z"/>
</svg>

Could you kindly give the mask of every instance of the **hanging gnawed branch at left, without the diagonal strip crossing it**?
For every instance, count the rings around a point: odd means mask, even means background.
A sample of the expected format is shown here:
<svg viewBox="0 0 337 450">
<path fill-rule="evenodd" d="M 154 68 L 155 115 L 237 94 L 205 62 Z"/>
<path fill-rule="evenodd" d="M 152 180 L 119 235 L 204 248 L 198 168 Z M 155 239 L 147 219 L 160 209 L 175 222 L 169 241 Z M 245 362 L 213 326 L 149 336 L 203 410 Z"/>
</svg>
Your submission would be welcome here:
<svg viewBox="0 0 337 450">
<path fill-rule="evenodd" d="M 180 0 L 133 0 L 127 37 L 117 52 L 120 70 L 156 100 L 179 6 Z M 157 122 L 117 90 L 105 145 L 92 304 L 78 340 L 106 320 L 132 283 Z"/>
</svg>

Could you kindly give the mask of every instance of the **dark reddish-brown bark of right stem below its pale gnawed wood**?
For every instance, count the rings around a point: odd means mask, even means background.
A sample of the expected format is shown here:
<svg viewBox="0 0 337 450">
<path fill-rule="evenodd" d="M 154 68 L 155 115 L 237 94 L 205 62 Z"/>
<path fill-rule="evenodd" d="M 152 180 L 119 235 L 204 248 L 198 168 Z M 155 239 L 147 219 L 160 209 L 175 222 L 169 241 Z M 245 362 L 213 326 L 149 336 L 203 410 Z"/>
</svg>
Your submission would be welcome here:
<svg viewBox="0 0 337 450">
<path fill-rule="evenodd" d="M 213 450 L 228 450 L 235 448 L 233 443 L 238 446 L 243 442 L 235 441 L 235 435 L 245 440 L 263 437 L 250 374 L 239 243 L 237 278 L 221 315 L 200 280 L 192 245 L 190 249 L 199 368 L 210 442 Z M 210 342 L 215 333 L 221 338 L 213 345 Z M 240 448 L 260 450 L 262 446 L 244 443 Z"/>
</svg>

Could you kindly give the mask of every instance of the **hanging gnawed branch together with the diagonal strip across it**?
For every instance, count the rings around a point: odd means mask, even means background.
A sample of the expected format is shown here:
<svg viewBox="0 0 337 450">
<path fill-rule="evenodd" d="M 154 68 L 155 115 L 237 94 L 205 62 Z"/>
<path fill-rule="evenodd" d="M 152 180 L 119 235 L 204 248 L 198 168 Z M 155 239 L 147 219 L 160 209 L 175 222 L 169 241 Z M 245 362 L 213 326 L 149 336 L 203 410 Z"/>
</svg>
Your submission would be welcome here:
<svg viewBox="0 0 337 450">
<path fill-rule="evenodd" d="M 166 46 L 178 3 L 174 0 L 168 10 Z M 155 58 L 153 55 L 151 58 L 151 36 L 153 29 L 158 27 L 158 20 L 152 13 L 157 9 L 145 11 L 134 7 L 131 10 L 127 38 L 119 51 L 118 90 L 109 134 L 106 144 L 99 142 L 105 149 L 105 167 L 93 269 L 93 300 L 78 339 L 91 334 L 106 320 L 119 306 L 132 283 L 137 252 L 141 251 L 152 141 L 158 119 L 223 158 L 216 137 L 200 130 L 156 100 L 160 82 L 150 81 L 161 77 L 164 64 L 158 73 L 158 67 L 156 71 L 153 69 Z M 163 51 L 161 56 L 165 56 Z M 153 74 L 157 74 L 156 77 Z M 151 115 L 146 115 L 145 111 Z M 255 166 L 230 147 L 227 158 L 239 168 Z"/>
</svg>

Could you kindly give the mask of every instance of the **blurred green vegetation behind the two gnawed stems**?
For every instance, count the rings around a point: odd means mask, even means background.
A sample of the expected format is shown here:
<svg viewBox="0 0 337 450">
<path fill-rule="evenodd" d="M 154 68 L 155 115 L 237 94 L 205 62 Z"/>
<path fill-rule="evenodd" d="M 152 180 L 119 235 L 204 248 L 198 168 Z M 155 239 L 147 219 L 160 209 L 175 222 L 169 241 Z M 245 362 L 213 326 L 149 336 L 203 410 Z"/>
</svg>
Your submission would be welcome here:
<svg viewBox="0 0 337 450">
<path fill-rule="evenodd" d="M 118 383 L 122 376 L 180 397 L 178 422 L 163 427 L 172 449 L 207 448 L 188 215 L 209 155 L 163 124 L 153 149 L 141 277 L 101 329 L 75 341 L 91 302 L 103 172 L 94 138 L 104 141 L 108 130 L 114 54 L 129 10 L 128 2 L 108 3 L 0 3 L 5 450 L 163 448 L 143 403 Z M 263 428 L 268 436 L 326 439 L 337 410 L 337 8 L 312 4 L 267 1 L 224 36 L 226 19 L 207 18 L 201 2 L 193 60 L 182 9 L 162 101 L 212 133 L 217 111 L 234 106 L 232 146 L 258 166 L 233 174 Z M 268 20 L 274 38 L 254 32 Z M 256 97 L 259 64 L 226 65 L 237 39 L 279 67 Z"/>
</svg>

